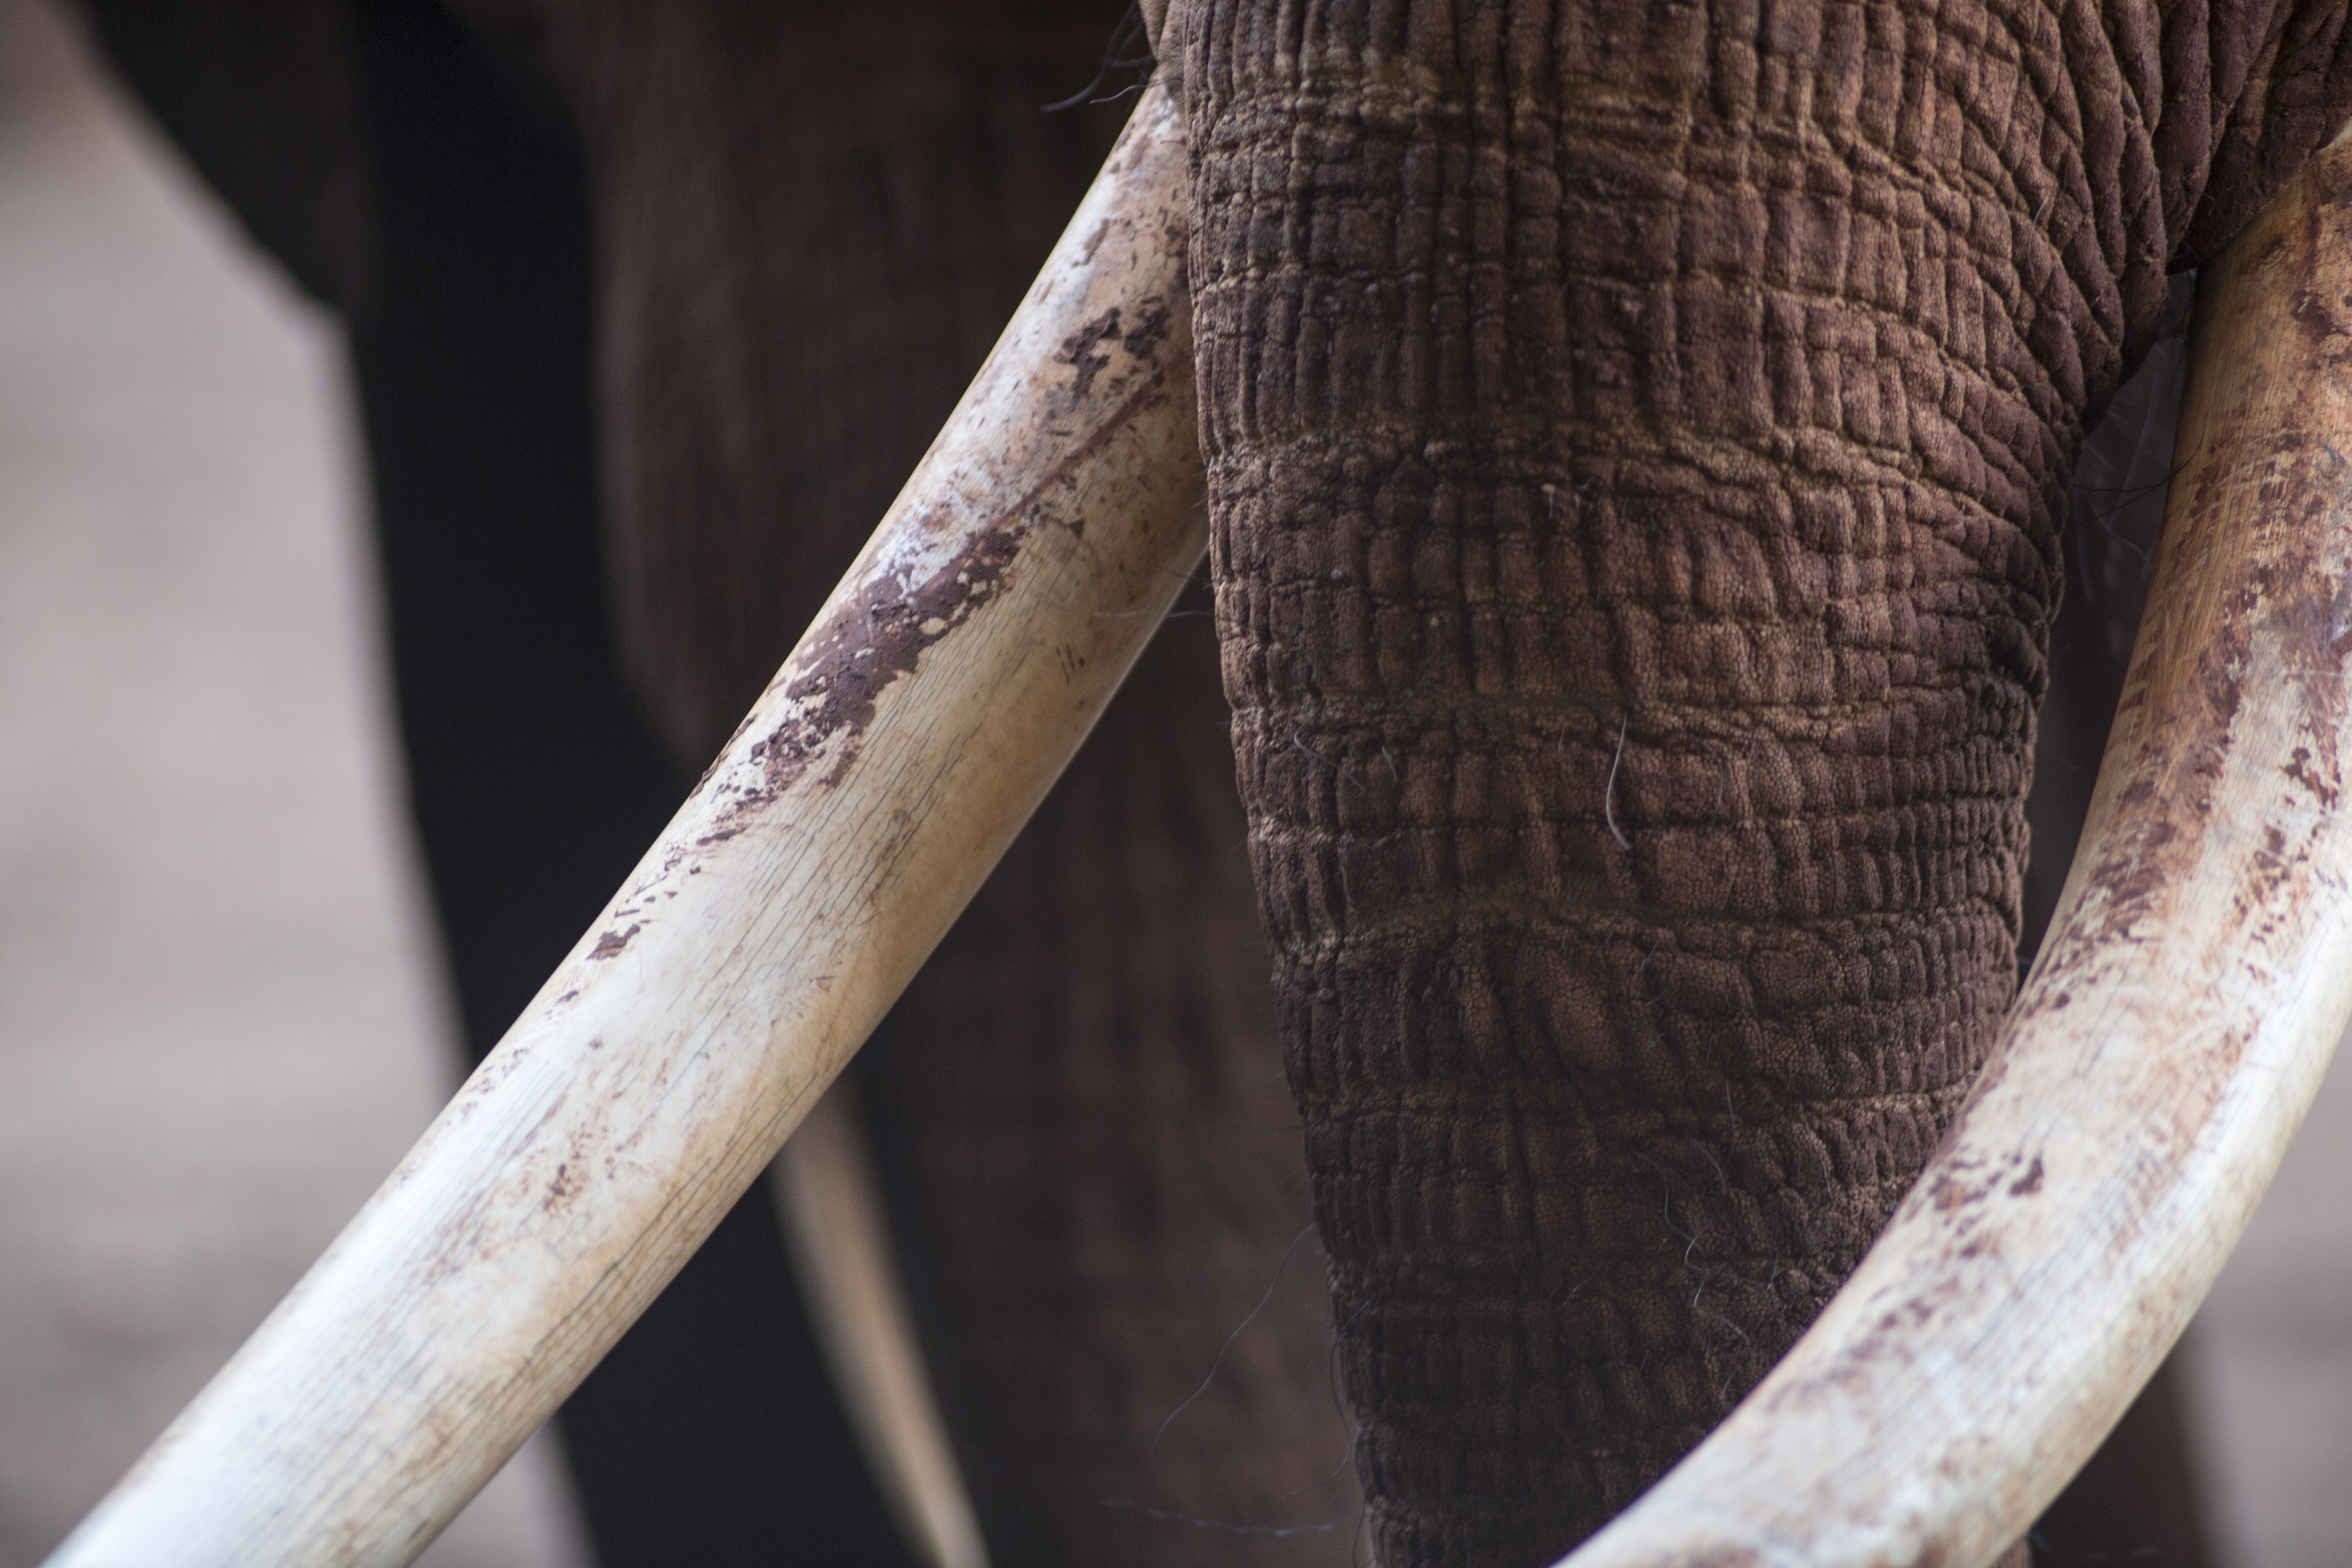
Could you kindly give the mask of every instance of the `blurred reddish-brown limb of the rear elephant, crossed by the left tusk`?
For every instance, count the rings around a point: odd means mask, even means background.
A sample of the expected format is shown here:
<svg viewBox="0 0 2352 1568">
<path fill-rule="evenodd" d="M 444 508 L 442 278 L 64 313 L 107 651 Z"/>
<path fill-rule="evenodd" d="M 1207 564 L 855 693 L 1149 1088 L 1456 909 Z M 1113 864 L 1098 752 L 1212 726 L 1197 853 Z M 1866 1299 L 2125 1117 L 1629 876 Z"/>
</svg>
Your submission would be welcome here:
<svg viewBox="0 0 2352 1568">
<path fill-rule="evenodd" d="M 1096 75 L 1117 14 L 546 16 L 597 169 L 626 639 L 675 750 L 708 755 L 1101 165 L 1120 106 L 1040 110 Z M 997 1561 L 1254 1561 L 1357 1523 L 1197 611 L 861 1067 L 901 1274 Z M 1334 1528 L 1275 1533 L 1291 1526 Z"/>
</svg>

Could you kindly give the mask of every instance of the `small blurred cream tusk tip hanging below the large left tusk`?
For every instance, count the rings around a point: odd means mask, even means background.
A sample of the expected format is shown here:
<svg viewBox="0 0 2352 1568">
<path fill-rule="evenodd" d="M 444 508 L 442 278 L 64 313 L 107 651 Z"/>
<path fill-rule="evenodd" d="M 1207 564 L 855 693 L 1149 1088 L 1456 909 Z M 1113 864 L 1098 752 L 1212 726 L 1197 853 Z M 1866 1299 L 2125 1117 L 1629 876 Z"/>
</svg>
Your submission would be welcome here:
<svg viewBox="0 0 2352 1568">
<path fill-rule="evenodd" d="M 988 1568 L 981 1521 L 948 1446 L 931 1375 L 906 1314 L 889 1220 L 849 1079 L 786 1140 L 769 1178 L 800 1295 L 833 1363 L 833 1387 L 882 1481 L 898 1528 L 931 1568 Z"/>
</svg>

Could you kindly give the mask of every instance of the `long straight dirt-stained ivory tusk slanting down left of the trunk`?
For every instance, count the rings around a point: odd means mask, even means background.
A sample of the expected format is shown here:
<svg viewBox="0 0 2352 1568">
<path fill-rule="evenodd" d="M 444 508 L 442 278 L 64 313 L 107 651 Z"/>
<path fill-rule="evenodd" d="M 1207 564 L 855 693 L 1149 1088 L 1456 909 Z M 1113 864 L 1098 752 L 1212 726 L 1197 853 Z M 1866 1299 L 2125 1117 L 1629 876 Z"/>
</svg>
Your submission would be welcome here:
<svg viewBox="0 0 2352 1568">
<path fill-rule="evenodd" d="M 1145 92 L 694 799 L 52 1563 L 405 1563 L 710 1234 L 1200 564 L 1183 228 L 1181 129 Z"/>
</svg>

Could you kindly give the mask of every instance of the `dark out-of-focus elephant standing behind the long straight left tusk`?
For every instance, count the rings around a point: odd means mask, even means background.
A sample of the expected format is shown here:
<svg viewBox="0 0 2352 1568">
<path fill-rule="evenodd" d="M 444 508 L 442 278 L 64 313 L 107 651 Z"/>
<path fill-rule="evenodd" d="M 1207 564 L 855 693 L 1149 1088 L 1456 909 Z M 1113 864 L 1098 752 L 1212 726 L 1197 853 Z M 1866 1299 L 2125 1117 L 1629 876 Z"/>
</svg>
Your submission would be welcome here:
<svg viewBox="0 0 2352 1568">
<path fill-rule="evenodd" d="M 480 1060 L 1037 270 L 1124 103 L 1040 108 L 1096 78 L 1117 16 L 85 12 L 247 230 L 348 322 L 409 806 Z M 663 71 L 612 80 L 637 61 Z M 1004 1559 L 1287 1556 L 1352 1530 L 1204 604 L 861 1067 Z M 993 1114 L 1033 1135 L 990 1143 Z M 788 1530 L 826 1561 L 908 1561 L 764 1187 L 557 1427 L 607 1568 L 757 1559 Z M 1218 1465 L 1244 1446 L 1256 1467 Z"/>
</svg>

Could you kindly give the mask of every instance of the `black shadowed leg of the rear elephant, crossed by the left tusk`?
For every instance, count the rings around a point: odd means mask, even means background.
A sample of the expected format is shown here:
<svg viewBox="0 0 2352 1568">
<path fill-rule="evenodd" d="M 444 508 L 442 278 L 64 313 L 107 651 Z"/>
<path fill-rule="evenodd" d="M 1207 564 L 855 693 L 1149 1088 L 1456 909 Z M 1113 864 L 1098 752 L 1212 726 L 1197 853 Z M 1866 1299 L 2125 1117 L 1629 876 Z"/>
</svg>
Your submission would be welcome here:
<svg viewBox="0 0 2352 1568">
<path fill-rule="evenodd" d="M 604 602 L 586 172 L 426 5 L 362 14 L 374 301 L 353 329 L 393 675 L 470 1056 L 684 792 Z M 757 1185 L 557 1415 L 607 1568 L 903 1563 Z M 809 1535 L 818 1530 L 818 1535 Z"/>
</svg>

